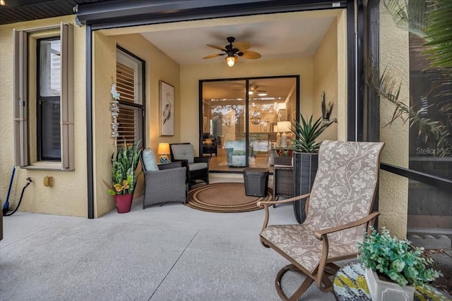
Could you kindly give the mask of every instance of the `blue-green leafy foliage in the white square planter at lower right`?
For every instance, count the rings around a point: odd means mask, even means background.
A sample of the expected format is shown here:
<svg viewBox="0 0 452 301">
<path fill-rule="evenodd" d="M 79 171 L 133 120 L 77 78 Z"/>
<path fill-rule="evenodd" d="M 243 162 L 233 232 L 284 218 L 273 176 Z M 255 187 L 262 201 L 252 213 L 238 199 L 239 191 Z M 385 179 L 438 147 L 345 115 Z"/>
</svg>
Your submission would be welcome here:
<svg viewBox="0 0 452 301">
<path fill-rule="evenodd" d="M 422 256 L 423 248 L 412 246 L 409 240 L 391 237 L 386 228 L 381 233 L 371 228 L 371 234 L 365 233 L 357 247 L 361 251 L 359 261 L 367 269 L 387 276 L 400 286 L 423 285 L 441 276 L 440 271 L 426 268 L 432 259 Z"/>
</svg>

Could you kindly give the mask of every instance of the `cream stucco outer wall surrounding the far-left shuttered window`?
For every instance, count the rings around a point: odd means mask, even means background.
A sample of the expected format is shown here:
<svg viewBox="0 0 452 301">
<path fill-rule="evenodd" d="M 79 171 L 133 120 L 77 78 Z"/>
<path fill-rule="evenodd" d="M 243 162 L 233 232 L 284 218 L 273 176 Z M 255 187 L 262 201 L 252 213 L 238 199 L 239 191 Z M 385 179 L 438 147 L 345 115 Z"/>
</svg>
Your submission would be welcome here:
<svg viewBox="0 0 452 301">
<path fill-rule="evenodd" d="M 75 23 L 73 16 L 49 18 L 0 26 L 0 195 L 4 201 L 8 191 L 13 158 L 13 28 L 26 30 L 35 27 Z M 86 194 L 86 117 L 85 117 L 85 28 L 74 24 L 74 171 L 36 171 L 16 169 L 9 199 L 10 209 L 16 208 L 27 177 L 32 184 L 25 190 L 20 211 L 68 216 L 87 216 Z M 44 176 L 52 176 L 54 185 L 45 187 Z M 3 204 L 3 202 L 1 202 Z"/>
</svg>

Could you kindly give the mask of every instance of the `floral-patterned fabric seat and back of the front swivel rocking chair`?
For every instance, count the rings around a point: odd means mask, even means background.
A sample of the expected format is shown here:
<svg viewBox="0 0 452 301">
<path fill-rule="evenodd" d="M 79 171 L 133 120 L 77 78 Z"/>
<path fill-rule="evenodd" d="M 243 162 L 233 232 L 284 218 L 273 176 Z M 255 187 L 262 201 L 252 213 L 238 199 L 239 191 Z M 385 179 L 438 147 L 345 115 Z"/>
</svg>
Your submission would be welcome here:
<svg viewBox="0 0 452 301">
<path fill-rule="evenodd" d="M 273 245 L 314 271 L 321 256 L 321 240 L 314 232 L 367 216 L 378 178 L 379 151 L 383 143 L 324 141 L 319 169 L 309 199 L 307 218 L 301 225 L 268 226 L 261 233 Z M 364 226 L 328 234 L 328 258 L 357 252 Z"/>
</svg>

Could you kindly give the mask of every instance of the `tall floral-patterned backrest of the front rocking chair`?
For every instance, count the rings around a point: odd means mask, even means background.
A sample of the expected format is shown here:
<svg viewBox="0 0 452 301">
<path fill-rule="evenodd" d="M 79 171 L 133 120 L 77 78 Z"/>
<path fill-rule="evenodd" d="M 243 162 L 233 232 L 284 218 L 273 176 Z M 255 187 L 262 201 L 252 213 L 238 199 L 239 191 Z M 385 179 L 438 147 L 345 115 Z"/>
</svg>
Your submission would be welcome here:
<svg viewBox="0 0 452 301">
<path fill-rule="evenodd" d="M 316 230 L 343 225 L 367 216 L 379 180 L 383 142 L 323 141 L 319 168 L 309 198 L 304 223 Z M 347 241 L 362 235 L 363 228 L 340 231 L 328 239 Z"/>
</svg>

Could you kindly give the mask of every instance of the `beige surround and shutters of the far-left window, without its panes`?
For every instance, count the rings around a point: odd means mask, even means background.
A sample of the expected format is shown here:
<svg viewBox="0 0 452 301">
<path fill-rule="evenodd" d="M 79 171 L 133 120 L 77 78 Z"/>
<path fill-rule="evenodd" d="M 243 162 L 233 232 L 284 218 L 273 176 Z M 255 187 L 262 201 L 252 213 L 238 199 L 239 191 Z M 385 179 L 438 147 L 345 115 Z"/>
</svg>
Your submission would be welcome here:
<svg viewBox="0 0 452 301">
<path fill-rule="evenodd" d="M 33 75 L 32 63 L 37 60 L 39 37 L 57 37 L 61 40 L 61 92 L 60 92 L 60 145 L 59 161 L 40 161 L 32 142 L 29 118 L 37 113 L 30 93 L 37 91 L 37 74 Z M 33 42 L 32 42 L 33 41 Z M 13 30 L 13 114 L 14 114 L 14 164 L 22 168 L 73 171 L 74 166 L 74 118 L 73 118 L 73 25 L 60 23 L 28 30 Z M 32 51 L 35 47 L 36 51 Z M 37 95 L 36 95 L 37 96 Z M 37 122 L 37 121 L 36 121 Z M 37 123 L 36 123 L 37 124 Z M 36 146 L 37 147 L 37 146 Z"/>
</svg>

